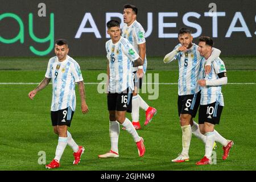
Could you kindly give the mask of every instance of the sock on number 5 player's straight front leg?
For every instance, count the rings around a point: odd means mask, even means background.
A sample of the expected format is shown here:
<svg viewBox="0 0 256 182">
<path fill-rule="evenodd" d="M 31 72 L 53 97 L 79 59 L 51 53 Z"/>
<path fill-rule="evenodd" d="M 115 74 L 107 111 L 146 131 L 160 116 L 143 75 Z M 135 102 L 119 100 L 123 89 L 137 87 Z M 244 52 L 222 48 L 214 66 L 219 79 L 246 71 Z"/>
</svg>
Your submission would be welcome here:
<svg viewBox="0 0 256 182">
<path fill-rule="evenodd" d="M 182 129 L 182 152 L 181 152 L 181 154 L 184 156 L 188 156 L 190 141 L 191 141 L 191 137 L 192 137 L 191 126 L 190 125 L 181 126 L 181 129 Z"/>
</svg>

